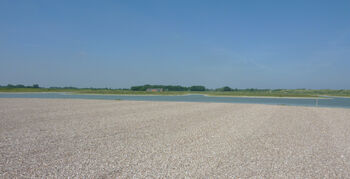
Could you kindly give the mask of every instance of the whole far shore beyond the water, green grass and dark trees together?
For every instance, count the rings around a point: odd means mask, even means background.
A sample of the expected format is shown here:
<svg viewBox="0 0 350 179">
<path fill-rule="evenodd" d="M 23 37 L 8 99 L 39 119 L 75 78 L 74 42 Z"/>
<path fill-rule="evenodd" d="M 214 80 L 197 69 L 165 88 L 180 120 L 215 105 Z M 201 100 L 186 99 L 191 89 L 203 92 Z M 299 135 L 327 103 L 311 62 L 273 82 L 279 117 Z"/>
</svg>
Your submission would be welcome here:
<svg viewBox="0 0 350 179">
<path fill-rule="evenodd" d="M 34 85 L 33 85 L 34 86 Z M 137 87 L 137 86 L 136 86 Z M 146 88 L 147 87 L 147 88 Z M 34 88 L 26 86 L 19 87 L 1 87 L 1 92 L 6 93 L 65 93 L 65 94 L 83 94 L 83 95 L 119 95 L 119 96 L 186 96 L 186 95 L 204 95 L 206 97 L 230 97 L 230 98 L 280 98 L 280 99 L 329 99 L 329 98 L 349 98 L 350 89 L 330 90 L 330 89 L 225 89 L 218 88 L 209 90 L 205 88 L 190 89 L 181 86 L 160 86 L 171 87 L 172 90 L 162 92 L 147 91 L 151 86 L 139 86 L 137 89 L 108 89 L 108 88 Z M 159 87 L 159 86 L 154 86 Z M 203 86 L 202 86 L 203 87 Z M 203 90 L 204 89 L 204 90 Z"/>
</svg>

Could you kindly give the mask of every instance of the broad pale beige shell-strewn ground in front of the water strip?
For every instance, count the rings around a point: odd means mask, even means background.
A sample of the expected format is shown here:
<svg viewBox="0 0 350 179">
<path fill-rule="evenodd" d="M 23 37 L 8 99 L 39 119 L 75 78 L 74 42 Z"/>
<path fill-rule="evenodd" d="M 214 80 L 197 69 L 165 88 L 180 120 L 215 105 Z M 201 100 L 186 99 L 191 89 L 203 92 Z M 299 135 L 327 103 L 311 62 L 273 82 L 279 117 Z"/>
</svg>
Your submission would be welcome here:
<svg viewBox="0 0 350 179">
<path fill-rule="evenodd" d="M 350 178 L 350 109 L 0 99 L 0 178 Z"/>
</svg>

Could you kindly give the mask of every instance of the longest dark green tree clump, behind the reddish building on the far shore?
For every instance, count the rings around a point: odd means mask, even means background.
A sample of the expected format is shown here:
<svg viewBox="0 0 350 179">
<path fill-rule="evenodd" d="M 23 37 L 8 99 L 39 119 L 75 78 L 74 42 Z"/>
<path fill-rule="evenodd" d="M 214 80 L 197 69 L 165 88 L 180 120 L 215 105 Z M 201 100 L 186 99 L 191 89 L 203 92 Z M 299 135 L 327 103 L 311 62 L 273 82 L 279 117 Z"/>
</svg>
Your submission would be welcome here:
<svg viewBox="0 0 350 179">
<path fill-rule="evenodd" d="M 164 91 L 205 91 L 205 86 L 173 86 L 173 85 L 142 85 L 142 86 L 132 86 L 130 89 L 132 91 L 146 91 L 148 88 L 163 88 Z"/>
</svg>

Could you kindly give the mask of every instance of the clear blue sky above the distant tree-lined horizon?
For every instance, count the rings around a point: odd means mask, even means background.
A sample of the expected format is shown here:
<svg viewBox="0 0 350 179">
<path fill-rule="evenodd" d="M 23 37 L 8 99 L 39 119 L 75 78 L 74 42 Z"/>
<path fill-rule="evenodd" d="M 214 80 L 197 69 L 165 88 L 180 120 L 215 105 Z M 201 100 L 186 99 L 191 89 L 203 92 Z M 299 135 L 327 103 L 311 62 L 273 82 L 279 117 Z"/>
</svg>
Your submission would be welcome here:
<svg viewBox="0 0 350 179">
<path fill-rule="evenodd" d="M 0 84 L 350 89 L 350 1 L 0 1 Z"/>
</svg>

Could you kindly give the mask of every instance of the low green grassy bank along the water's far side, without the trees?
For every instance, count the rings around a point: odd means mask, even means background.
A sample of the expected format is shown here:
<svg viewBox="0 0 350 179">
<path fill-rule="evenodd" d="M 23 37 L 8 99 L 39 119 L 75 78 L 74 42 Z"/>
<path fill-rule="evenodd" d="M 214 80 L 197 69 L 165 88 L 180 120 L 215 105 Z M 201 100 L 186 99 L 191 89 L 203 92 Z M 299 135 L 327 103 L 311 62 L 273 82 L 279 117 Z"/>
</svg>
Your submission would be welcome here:
<svg viewBox="0 0 350 179">
<path fill-rule="evenodd" d="M 55 89 L 55 88 L 0 88 L 0 92 L 72 92 L 79 94 L 117 94 L 117 95 L 186 95 L 203 94 L 208 96 L 261 96 L 261 97 L 350 97 L 350 90 L 236 90 L 236 91 L 164 91 L 147 92 L 117 89 Z"/>
</svg>

